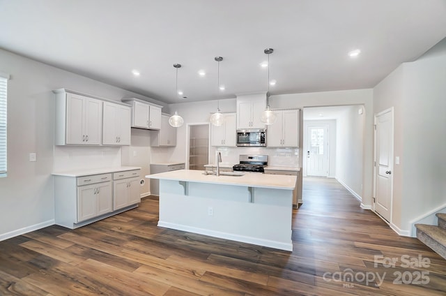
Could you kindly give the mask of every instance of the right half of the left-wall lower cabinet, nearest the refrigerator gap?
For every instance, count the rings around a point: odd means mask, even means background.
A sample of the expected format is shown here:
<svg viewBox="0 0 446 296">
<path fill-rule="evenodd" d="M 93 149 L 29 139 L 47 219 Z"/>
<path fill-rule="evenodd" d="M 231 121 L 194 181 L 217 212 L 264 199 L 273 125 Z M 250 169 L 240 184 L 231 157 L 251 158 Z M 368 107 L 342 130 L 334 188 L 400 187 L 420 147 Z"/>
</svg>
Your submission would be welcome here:
<svg viewBox="0 0 446 296">
<path fill-rule="evenodd" d="M 139 195 L 139 171 L 113 174 L 113 209 L 122 209 L 141 202 Z"/>
</svg>

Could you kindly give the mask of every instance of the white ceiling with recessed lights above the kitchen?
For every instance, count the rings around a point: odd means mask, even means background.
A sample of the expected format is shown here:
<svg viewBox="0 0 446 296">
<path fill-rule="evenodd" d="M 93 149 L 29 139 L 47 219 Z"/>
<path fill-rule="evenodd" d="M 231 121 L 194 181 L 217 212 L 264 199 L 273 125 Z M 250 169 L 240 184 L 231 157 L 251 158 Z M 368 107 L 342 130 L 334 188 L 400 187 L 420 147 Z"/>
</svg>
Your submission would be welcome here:
<svg viewBox="0 0 446 296">
<path fill-rule="evenodd" d="M 180 103 L 266 91 L 267 47 L 272 95 L 374 87 L 445 38 L 446 1 L 0 0 L 0 28 L 5 50 Z"/>
</svg>

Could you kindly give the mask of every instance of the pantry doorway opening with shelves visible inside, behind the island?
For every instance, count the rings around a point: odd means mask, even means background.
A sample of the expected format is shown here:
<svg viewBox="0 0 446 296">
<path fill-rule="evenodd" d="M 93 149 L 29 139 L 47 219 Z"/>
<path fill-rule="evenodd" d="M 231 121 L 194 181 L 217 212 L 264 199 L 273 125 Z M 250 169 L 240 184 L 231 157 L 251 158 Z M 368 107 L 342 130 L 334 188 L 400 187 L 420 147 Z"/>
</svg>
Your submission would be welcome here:
<svg viewBox="0 0 446 296">
<path fill-rule="evenodd" d="M 209 163 L 209 124 L 189 124 L 187 165 L 189 170 L 204 170 Z"/>
</svg>

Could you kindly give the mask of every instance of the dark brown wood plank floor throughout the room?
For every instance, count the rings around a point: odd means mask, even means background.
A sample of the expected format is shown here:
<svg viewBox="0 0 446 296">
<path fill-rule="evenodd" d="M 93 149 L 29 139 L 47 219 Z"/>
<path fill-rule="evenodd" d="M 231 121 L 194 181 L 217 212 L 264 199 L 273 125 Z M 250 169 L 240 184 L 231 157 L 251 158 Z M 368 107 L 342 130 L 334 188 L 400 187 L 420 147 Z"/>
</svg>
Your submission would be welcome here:
<svg viewBox="0 0 446 296">
<path fill-rule="evenodd" d="M 446 295 L 446 261 L 336 181 L 304 179 L 303 196 L 292 253 L 158 228 L 149 197 L 77 230 L 0 242 L 0 295 Z"/>
</svg>

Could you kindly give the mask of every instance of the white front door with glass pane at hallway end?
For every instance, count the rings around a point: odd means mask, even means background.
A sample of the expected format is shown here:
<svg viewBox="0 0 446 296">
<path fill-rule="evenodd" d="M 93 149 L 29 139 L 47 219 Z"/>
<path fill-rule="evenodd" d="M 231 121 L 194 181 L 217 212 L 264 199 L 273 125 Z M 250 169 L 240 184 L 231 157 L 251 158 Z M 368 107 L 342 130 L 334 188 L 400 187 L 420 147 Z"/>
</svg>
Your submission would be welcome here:
<svg viewBox="0 0 446 296">
<path fill-rule="evenodd" d="M 328 125 L 307 126 L 307 176 L 328 177 Z"/>
</svg>

